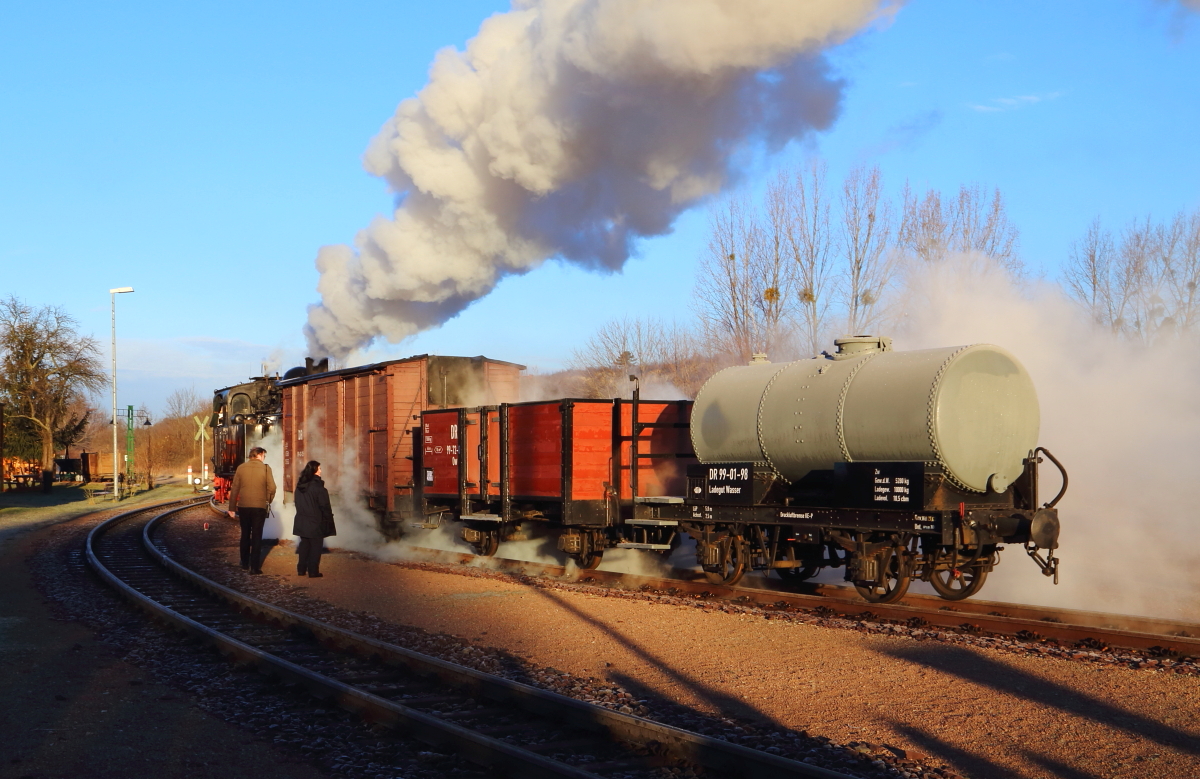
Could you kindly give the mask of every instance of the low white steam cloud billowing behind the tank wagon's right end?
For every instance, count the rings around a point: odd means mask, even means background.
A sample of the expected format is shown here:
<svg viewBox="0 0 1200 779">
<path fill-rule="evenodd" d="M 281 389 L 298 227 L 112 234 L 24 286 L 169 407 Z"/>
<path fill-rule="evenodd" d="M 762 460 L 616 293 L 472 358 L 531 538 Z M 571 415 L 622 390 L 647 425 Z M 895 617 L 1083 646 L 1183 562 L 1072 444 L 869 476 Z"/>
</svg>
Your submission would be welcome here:
<svg viewBox="0 0 1200 779">
<path fill-rule="evenodd" d="M 898 349 L 988 342 L 1016 355 L 1038 390 L 1039 442 L 1070 475 L 1060 586 L 1009 547 L 980 597 L 1200 619 L 1196 349 L 1118 340 L 1057 286 L 1019 287 L 982 257 L 914 268 L 902 307 Z M 1044 502 L 1058 481 L 1049 462 L 1043 474 Z"/>
</svg>

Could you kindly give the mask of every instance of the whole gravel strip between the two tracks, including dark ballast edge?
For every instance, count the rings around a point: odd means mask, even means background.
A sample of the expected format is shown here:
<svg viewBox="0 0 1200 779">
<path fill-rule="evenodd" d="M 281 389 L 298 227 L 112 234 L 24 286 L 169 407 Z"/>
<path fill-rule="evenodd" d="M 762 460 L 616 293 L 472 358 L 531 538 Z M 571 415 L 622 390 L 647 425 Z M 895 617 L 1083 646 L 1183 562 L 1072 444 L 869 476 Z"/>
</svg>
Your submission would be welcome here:
<svg viewBox="0 0 1200 779">
<path fill-rule="evenodd" d="M 352 553 L 300 579 L 287 547 L 251 577 L 235 535 L 202 511 L 168 531 L 198 569 L 294 611 L 841 771 L 1200 775 L 1200 677 L 1176 658 Z"/>
</svg>

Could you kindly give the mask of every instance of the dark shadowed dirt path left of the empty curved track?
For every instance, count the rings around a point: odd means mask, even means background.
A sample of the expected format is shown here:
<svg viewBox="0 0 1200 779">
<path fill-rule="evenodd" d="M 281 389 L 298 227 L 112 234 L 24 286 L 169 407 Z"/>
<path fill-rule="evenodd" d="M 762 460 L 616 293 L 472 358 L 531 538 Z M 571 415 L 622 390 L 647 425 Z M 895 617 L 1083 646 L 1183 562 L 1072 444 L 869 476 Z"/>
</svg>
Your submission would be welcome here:
<svg viewBox="0 0 1200 779">
<path fill-rule="evenodd" d="M 42 525 L 47 521 L 37 517 Z M 0 777 L 326 775 L 196 709 L 188 695 L 120 660 L 92 630 L 54 618 L 32 586 L 28 564 L 54 529 L 25 533 L 0 547 L 0 733 L 5 745 Z M 89 574 L 78 569 L 73 575 Z"/>
</svg>

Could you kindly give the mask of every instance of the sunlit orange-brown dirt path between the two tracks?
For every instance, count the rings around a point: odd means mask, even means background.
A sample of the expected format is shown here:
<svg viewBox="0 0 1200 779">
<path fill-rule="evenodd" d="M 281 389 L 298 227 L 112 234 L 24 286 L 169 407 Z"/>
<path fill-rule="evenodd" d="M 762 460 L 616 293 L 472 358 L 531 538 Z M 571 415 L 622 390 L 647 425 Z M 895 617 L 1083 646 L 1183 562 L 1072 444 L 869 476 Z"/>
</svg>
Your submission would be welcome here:
<svg viewBox="0 0 1200 779">
<path fill-rule="evenodd" d="M 227 559 L 232 557 L 227 555 Z M 1200 678 L 866 635 L 511 579 L 325 558 L 311 598 L 460 636 L 636 695 L 846 743 L 931 754 L 970 777 L 1200 775 Z"/>
</svg>

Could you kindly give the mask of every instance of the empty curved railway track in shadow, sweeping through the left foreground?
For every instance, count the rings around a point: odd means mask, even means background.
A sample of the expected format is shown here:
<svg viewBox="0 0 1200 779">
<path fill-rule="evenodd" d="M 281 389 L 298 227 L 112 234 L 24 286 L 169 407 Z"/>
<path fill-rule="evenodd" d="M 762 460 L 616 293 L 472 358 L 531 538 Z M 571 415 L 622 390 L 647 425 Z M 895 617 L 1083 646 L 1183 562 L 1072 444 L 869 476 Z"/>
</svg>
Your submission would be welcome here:
<svg viewBox="0 0 1200 779">
<path fill-rule="evenodd" d="M 691 768 L 708 778 L 846 774 L 668 727 L 454 665 L 250 598 L 155 541 L 196 505 L 128 511 L 88 535 L 88 564 L 157 619 L 239 664 L 307 688 L 404 736 L 515 777 L 612 779 Z"/>
</svg>

